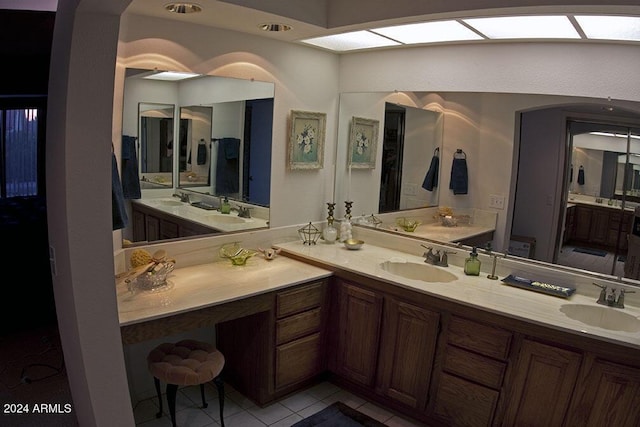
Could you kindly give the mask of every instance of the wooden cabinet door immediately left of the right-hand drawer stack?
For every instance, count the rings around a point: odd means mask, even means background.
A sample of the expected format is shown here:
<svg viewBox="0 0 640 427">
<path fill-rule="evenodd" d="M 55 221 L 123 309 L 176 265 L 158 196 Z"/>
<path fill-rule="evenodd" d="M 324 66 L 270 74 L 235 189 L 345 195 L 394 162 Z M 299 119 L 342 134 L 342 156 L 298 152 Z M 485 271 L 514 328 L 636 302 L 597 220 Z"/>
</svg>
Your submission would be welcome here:
<svg viewBox="0 0 640 427">
<path fill-rule="evenodd" d="M 412 408 L 427 403 L 440 315 L 385 299 L 377 389 Z"/>
</svg>

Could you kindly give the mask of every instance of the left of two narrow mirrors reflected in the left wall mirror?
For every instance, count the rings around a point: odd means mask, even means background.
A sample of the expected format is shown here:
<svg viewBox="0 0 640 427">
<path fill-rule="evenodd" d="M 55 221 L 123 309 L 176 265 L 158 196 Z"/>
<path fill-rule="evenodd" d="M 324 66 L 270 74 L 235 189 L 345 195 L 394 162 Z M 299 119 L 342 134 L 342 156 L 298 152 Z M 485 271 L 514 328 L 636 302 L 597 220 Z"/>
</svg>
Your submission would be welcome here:
<svg viewBox="0 0 640 427">
<path fill-rule="evenodd" d="M 171 187 L 174 106 L 141 102 L 138 111 L 140 179 L 151 188 L 154 185 Z"/>
</svg>

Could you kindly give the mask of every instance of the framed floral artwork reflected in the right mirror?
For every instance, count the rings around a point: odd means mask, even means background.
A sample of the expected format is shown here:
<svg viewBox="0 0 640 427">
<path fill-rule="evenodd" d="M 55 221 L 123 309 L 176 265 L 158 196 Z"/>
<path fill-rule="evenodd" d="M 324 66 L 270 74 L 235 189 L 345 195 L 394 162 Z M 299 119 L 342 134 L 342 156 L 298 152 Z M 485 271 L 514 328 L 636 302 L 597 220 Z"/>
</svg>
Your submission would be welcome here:
<svg viewBox="0 0 640 427">
<path fill-rule="evenodd" d="M 378 144 L 378 120 L 353 117 L 349 136 L 349 166 L 352 168 L 373 169 L 376 167 L 376 149 Z"/>
</svg>

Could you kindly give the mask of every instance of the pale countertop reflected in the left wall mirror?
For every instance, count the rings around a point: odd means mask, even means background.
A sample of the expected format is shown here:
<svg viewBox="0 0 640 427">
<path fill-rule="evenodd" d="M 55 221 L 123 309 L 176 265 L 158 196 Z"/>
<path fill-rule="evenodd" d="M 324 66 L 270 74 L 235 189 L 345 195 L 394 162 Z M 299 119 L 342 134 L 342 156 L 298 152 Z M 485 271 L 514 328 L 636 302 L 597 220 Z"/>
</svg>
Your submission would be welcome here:
<svg viewBox="0 0 640 427">
<path fill-rule="evenodd" d="M 241 218 L 235 210 L 232 210 L 230 214 L 221 214 L 217 210 L 201 209 L 191 206 L 189 203 L 180 202 L 176 197 L 143 198 L 132 200 L 132 202 L 159 210 L 169 215 L 193 221 L 222 232 L 244 231 L 268 227 L 268 221 L 266 219 L 257 217 Z"/>
</svg>

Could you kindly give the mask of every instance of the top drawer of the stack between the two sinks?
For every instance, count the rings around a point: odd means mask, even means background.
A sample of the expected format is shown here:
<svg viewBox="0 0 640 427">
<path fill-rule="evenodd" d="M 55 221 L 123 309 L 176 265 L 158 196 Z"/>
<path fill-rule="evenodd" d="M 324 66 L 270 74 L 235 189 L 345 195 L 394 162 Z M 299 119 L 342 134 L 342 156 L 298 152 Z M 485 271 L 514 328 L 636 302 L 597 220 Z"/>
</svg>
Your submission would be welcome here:
<svg viewBox="0 0 640 427">
<path fill-rule="evenodd" d="M 485 356 L 506 360 L 511 345 L 511 333 L 453 317 L 449 325 L 449 343 Z"/>
</svg>

